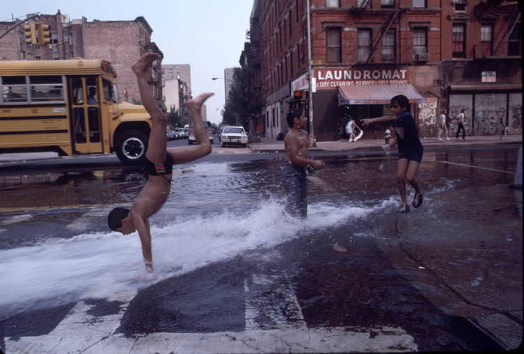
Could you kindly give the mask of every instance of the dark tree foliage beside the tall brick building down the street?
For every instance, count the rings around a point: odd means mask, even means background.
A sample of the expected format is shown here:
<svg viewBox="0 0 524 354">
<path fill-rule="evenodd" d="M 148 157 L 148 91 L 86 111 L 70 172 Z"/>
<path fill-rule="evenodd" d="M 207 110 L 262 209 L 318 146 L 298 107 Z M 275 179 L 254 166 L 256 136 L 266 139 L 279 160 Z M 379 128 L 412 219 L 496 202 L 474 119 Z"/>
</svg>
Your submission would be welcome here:
<svg viewBox="0 0 524 354">
<path fill-rule="evenodd" d="M 223 124 L 241 124 L 248 129 L 249 119 L 262 111 L 264 101 L 254 82 L 255 75 L 248 67 L 235 67 L 228 101 L 222 111 Z"/>
</svg>

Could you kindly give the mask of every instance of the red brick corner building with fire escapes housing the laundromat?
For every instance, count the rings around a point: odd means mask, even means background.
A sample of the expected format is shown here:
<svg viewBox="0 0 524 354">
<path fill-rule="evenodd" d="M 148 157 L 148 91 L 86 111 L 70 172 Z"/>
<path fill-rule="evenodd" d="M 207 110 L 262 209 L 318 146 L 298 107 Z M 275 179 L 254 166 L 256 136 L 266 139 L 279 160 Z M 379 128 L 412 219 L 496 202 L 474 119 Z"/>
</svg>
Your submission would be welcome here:
<svg viewBox="0 0 524 354">
<path fill-rule="evenodd" d="M 308 89 L 306 0 L 260 0 L 260 5 L 265 131 L 266 136 L 275 137 L 287 129 L 285 115 L 290 106 L 300 105 L 308 112 L 308 101 L 292 99 L 295 90 Z M 498 72 L 501 85 L 508 81 L 513 85 L 496 88 L 511 106 L 521 97 L 520 66 L 504 67 L 486 54 L 498 50 L 511 54 L 505 58 L 507 63 L 520 61 L 521 44 L 516 32 L 510 31 L 520 32 L 516 8 L 516 1 L 503 0 L 310 0 L 315 137 L 337 139 L 349 116 L 388 114 L 389 99 L 397 94 L 411 99 L 421 135 L 435 136 L 437 112 L 463 98 L 454 93 L 468 90 L 464 78 L 470 77 L 473 85 L 482 82 L 483 71 Z M 510 18 L 511 13 L 518 16 Z M 461 57 L 453 49 L 458 46 L 459 24 L 468 29 Z M 488 24 L 491 49 L 482 39 L 489 35 Z M 505 38 L 511 45 L 498 45 Z M 476 54 L 480 46 L 482 58 Z M 482 90 L 490 89 L 482 86 Z M 484 127 L 479 134 L 485 134 Z M 381 138 L 383 130 L 378 125 L 370 127 L 365 138 Z"/>
</svg>

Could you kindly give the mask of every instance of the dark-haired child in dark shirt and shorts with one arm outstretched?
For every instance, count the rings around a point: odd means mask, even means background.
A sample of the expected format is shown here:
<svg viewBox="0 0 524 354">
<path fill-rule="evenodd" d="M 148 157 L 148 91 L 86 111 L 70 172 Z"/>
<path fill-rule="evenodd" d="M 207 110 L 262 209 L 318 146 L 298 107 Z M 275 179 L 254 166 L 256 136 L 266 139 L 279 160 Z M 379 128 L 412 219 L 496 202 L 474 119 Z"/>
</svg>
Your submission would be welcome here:
<svg viewBox="0 0 524 354">
<path fill-rule="evenodd" d="M 411 204 L 418 208 L 422 205 L 422 190 L 417 182 L 418 166 L 422 161 L 424 147 L 420 143 L 418 127 L 415 118 L 409 112 L 409 100 L 404 95 L 397 95 L 390 101 L 391 113 L 394 115 L 384 115 L 379 118 L 368 118 L 362 121 L 367 126 L 371 123 L 392 122 L 395 129 L 395 138 L 389 147 L 399 145 L 399 160 L 397 161 L 397 183 L 402 198 L 401 213 L 408 213 L 409 206 L 406 199 L 406 181 L 415 188 L 415 198 Z M 387 146 L 386 146 L 387 148 Z"/>
</svg>

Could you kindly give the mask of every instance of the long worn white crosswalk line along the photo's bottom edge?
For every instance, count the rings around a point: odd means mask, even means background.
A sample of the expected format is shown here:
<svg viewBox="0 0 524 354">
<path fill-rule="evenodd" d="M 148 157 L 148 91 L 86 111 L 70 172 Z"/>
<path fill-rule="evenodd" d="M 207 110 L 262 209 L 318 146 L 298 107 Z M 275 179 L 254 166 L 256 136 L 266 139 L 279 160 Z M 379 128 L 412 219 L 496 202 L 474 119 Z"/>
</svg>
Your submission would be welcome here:
<svg viewBox="0 0 524 354">
<path fill-rule="evenodd" d="M 400 353 L 417 351 L 415 339 L 402 328 L 284 328 L 244 332 L 165 333 L 107 337 L 108 330 L 6 339 L 7 353 L 84 354 L 216 354 L 216 353 Z M 80 330 L 80 332 L 78 332 Z"/>
</svg>

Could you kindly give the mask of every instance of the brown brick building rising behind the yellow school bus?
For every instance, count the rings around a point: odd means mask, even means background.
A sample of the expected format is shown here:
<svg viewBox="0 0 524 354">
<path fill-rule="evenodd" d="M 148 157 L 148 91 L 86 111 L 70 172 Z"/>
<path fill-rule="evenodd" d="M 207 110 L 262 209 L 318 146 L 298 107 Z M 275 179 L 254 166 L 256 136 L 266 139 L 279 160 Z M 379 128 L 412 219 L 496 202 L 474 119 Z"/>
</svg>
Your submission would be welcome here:
<svg viewBox="0 0 524 354">
<path fill-rule="evenodd" d="M 0 29 L 4 26 L 6 28 L 13 26 L 15 22 L 1 22 Z M 21 25 L 0 40 L 0 58 L 8 60 L 61 60 L 75 57 L 104 59 L 111 62 L 118 74 L 119 99 L 128 102 L 137 102 L 140 99 L 138 83 L 131 65 L 147 51 L 161 54 L 157 45 L 151 42 L 153 30 L 144 17 L 136 17 L 132 21 L 95 19 L 88 22 L 86 17 L 70 19 L 68 15 L 63 15 L 58 10 L 56 15 L 39 15 L 38 22 L 48 24 L 50 27 L 49 45 L 27 45 L 24 25 Z M 154 64 L 150 83 L 154 97 L 161 101 L 163 97 L 160 63 Z"/>
</svg>

